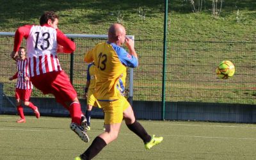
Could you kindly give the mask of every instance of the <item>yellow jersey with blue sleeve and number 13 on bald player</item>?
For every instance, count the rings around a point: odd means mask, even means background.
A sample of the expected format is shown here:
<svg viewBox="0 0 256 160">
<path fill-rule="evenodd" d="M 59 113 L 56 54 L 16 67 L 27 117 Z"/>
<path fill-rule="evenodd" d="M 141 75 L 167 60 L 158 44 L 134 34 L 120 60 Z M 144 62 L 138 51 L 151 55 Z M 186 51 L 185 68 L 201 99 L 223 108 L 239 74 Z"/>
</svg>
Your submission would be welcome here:
<svg viewBox="0 0 256 160">
<path fill-rule="evenodd" d="M 120 99 L 120 87 L 123 90 L 125 88 L 126 68 L 138 66 L 136 57 L 124 48 L 108 42 L 102 42 L 88 51 L 84 55 L 84 61 L 95 63 L 95 97 L 99 101 Z"/>
</svg>

